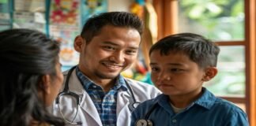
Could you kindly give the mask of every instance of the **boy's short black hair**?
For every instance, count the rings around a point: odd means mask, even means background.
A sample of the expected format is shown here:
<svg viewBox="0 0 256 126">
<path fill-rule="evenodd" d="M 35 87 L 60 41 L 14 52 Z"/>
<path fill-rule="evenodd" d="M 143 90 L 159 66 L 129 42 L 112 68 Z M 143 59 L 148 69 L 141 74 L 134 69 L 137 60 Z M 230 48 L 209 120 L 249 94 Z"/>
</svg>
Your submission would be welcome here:
<svg viewBox="0 0 256 126">
<path fill-rule="evenodd" d="M 154 44 L 149 50 L 149 55 L 154 50 L 160 50 L 161 55 L 168 55 L 170 52 L 186 54 L 201 68 L 216 67 L 217 56 L 220 53 L 216 43 L 194 33 L 169 35 Z"/>
</svg>

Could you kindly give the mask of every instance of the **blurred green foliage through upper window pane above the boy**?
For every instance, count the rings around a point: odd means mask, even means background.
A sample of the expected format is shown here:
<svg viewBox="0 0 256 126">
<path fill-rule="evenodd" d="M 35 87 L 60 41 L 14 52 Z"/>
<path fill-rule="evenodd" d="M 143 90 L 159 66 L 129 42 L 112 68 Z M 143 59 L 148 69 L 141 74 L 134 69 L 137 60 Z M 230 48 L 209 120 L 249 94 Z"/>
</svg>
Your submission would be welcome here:
<svg viewBox="0 0 256 126">
<path fill-rule="evenodd" d="M 181 0 L 179 15 L 186 17 L 182 20 L 192 27 L 189 31 L 199 28 L 196 32 L 210 39 L 240 40 L 244 39 L 243 4 L 243 0 Z"/>
</svg>

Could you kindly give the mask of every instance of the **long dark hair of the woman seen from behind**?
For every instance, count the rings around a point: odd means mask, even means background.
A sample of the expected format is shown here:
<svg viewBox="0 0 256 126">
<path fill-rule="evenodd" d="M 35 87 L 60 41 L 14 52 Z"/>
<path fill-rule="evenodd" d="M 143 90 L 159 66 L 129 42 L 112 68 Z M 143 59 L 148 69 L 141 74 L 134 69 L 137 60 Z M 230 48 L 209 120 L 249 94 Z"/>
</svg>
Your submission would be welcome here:
<svg viewBox="0 0 256 126">
<path fill-rule="evenodd" d="M 59 46 L 40 31 L 11 29 L 0 32 L 0 125 L 39 123 L 64 125 L 47 113 L 38 91 L 42 77 L 56 75 Z"/>
</svg>

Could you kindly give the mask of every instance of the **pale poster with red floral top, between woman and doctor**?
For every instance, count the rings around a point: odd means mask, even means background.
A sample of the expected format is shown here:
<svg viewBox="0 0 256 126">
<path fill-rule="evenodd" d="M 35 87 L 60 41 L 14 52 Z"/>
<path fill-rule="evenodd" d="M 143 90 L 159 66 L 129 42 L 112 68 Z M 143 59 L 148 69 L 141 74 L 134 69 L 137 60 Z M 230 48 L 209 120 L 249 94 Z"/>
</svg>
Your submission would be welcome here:
<svg viewBox="0 0 256 126">
<path fill-rule="evenodd" d="M 61 43 L 59 54 L 63 66 L 77 65 L 78 54 L 73 40 L 80 33 L 80 0 L 52 0 L 49 35 Z"/>
</svg>

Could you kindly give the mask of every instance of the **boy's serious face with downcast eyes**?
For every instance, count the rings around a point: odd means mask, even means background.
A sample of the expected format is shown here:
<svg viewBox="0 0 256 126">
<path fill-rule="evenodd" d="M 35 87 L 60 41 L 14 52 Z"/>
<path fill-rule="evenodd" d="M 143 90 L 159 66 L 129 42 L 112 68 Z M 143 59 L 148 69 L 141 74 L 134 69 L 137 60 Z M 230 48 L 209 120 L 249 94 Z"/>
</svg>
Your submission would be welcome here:
<svg viewBox="0 0 256 126">
<path fill-rule="evenodd" d="M 201 92 L 205 70 L 183 53 L 160 55 L 160 50 L 150 54 L 152 82 L 171 96 L 191 96 Z"/>
</svg>

